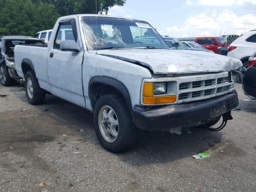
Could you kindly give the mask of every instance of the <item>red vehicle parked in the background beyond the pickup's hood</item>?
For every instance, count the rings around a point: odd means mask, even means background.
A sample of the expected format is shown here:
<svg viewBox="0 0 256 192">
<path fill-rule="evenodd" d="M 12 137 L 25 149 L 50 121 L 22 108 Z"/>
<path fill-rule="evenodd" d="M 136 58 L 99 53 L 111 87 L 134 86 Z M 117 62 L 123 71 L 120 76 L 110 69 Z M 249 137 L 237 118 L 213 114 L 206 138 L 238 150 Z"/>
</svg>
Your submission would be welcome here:
<svg viewBox="0 0 256 192">
<path fill-rule="evenodd" d="M 198 37 L 195 40 L 196 43 L 202 45 L 204 48 L 213 51 L 214 53 L 218 52 L 218 47 L 226 46 L 227 43 L 224 37 Z"/>
</svg>

